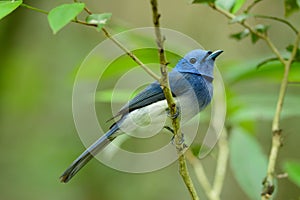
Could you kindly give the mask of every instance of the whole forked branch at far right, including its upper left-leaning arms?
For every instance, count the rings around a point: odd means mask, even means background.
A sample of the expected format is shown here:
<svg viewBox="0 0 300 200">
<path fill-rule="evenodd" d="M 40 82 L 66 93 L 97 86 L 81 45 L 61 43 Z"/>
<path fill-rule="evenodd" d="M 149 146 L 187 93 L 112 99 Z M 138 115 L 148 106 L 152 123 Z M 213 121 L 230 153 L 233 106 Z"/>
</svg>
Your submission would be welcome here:
<svg viewBox="0 0 300 200">
<path fill-rule="evenodd" d="M 259 1 L 255 1 L 255 3 L 253 3 L 253 6 L 257 2 L 259 2 Z M 211 8 L 213 8 L 214 10 L 218 11 L 219 13 L 223 14 L 224 16 L 226 16 L 228 19 L 232 20 L 236 17 L 232 13 L 229 13 L 228 11 L 217 7 L 214 3 L 209 3 L 209 6 Z M 251 5 L 250 8 L 248 8 L 246 11 L 249 11 L 253 6 Z M 272 194 L 273 194 L 274 189 L 275 189 L 274 188 L 275 166 L 276 166 L 276 161 L 277 161 L 279 148 L 282 145 L 282 130 L 280 129 L 280 123 L 279 122 L 280 122 L 280 116 L 281 116 L 281 112 L 282 112 L 282 108 L 283 108 L 284 97 L 285 97 L 285 94 L 286 94 L 286 89 L 287 89 L 287 86 L 288 86 L 288 83 L 289 83 L 288 82 L 288 76 L 289 76 L 290 67 L 291 67 L 291 64 L 293 63 L 293 60 L 294 60 L 295 56 L 296 56 L 297 48 L 298 48 L 299 43 L 300 43 L 300 33 L 292 24 L 290 24 L 286 20 L 279 19 L 277 17 L 270 17 L 270 16 L 259 16 L 259 17 L 272 19 L 272 20 L 277 20 L 277 21 L 280 21 L 282 23 L 285 23 L 297 34 L 297 38 L 296 38 L 296 41 L 294 43 L 294 47 L 293 47 L 292 53 L 290 55 L 290 58 L 288 60 L 286 60 L 280 54 L 278 49 L 275 47 L 273 42 L 270 40 L 270 38 L 266 34 L 256 31 L 247 22 L 245 22 L 245 20 L 238 22 L 240 25 L 247 28 L 252 34 L 255 34 L 257 37 L 264 40 L 267 43 L 267 45 L 269 46 L 269 48 L 273 51 L 275 56 L 278 58 L 278 60 L 284 65 L 284 75 L 283 75 L 283 78 L 282 78 L 282 81 L 281 81 L 279 97 L 278 97 L 278 100 L 277 100 L 276 111 L 275 111 L 273 122 L 272 122 L 273 137 L 272 137 L 271 152 L 270 152 L 270 155 L 269 155 L 267 176 L 263 181 L 264 188 L 263 188 L 263 191 L 261 193 L 262 200 L 267 200 L 267 199 L 270 199 L 272 197 Z"/>
</svg>

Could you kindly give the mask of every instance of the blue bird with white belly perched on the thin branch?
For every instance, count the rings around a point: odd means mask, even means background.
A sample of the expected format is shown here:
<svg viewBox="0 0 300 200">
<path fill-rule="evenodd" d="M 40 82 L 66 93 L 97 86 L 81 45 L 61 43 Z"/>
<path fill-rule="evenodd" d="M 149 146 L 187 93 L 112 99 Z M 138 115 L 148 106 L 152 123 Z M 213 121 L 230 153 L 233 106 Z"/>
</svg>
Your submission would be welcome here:
<svg viewBox="0 0 300 200">
<path fill-rule="evenodd" d="M 181 58 L 168 73 L 170 89 L 178 108 L 176 110 L 180 115 L 180 123 L 186 123 L 210 104 L 213 97 L 214 63 L 222 52 L 223 50 L 214 52 L 203 49 L 192 50 Z M 149 117 L 151 118 L 150 122 Z M 143 126 L 139 125 L 140 123 L 146 121 L 153 126 L 158 126 L 161 130 L 163 128 L 172 130 L 172 126 L 165 125 L 170 117 L 176 116 L 170 116 L 162 87 L 158 81 L 155 81 L 111 118 L 118 118 L 118 120 L 73 161 L 60 176 L 60 181 L 67 183 L 96 154 L 122 133 L 137 131 L 138 134 L 143 134 L 145 131 L 154 130 L 143 129 Z M 133 120 L 138 120 L 138 122 L 135 123 Z"/>
</svg>

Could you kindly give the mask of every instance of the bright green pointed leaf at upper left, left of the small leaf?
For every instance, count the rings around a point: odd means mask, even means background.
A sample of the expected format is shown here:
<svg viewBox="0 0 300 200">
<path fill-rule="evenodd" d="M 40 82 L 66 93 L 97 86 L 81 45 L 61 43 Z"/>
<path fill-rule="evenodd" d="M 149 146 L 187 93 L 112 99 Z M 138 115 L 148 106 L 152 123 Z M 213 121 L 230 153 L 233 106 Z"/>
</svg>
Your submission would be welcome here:
<svg viewBox="0 0 300 200">
<path fill-rule="evenodd" d="M 48 21 L 53 33 L 71 22 L 84 9 L 84 3 L 63 4 L 53 8 L 48 14 Z"/>
</svg>

